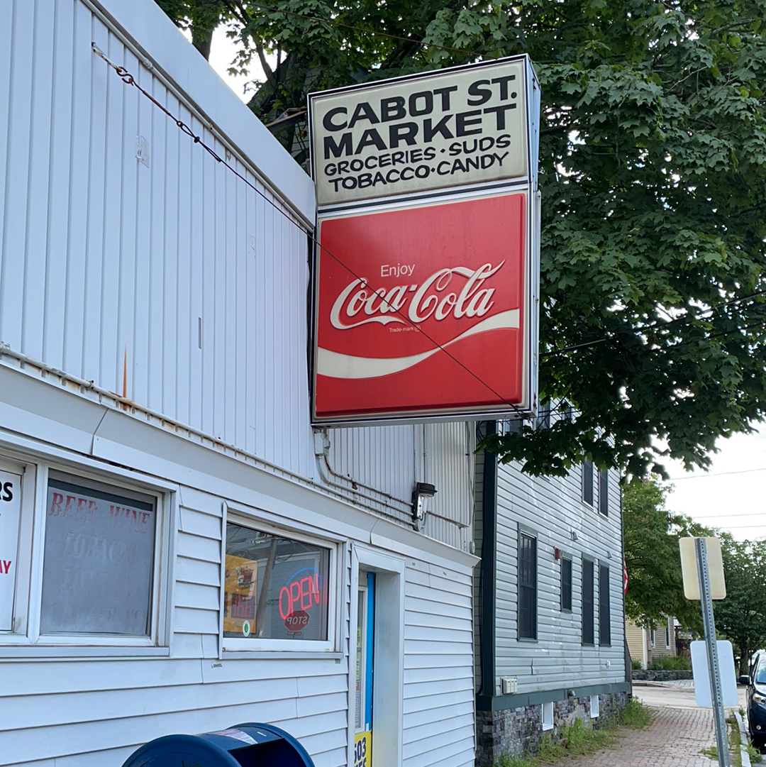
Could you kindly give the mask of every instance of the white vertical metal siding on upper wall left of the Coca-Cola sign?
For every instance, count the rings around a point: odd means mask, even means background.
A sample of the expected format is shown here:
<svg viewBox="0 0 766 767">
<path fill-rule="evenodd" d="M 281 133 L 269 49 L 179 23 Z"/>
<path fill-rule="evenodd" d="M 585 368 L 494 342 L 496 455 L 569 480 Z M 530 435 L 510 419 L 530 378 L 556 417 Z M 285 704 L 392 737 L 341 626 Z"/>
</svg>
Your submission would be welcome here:
<svg viewBox="0 0 766 767">
<path fill-rule="evenodd" d="M 311 474 L 294 216 L 86 5 L 13 0 L 3 15 L 0 340 L 116 393 L 124 377 L 137 404 Z"/>
</svg>

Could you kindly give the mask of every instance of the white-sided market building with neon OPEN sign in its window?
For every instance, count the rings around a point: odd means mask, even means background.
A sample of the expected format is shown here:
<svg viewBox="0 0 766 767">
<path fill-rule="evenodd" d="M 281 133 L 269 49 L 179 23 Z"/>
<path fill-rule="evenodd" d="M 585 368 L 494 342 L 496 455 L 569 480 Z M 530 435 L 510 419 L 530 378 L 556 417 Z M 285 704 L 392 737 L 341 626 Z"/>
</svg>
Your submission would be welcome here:
<svg viewBox="0 0 766 767">
<path fill-rule="evenodd" d="M 312 431 L 313 185 L 152 0 L 0 15 L 0 764 L 472 765 L 472 427 Z"/>
</svg>

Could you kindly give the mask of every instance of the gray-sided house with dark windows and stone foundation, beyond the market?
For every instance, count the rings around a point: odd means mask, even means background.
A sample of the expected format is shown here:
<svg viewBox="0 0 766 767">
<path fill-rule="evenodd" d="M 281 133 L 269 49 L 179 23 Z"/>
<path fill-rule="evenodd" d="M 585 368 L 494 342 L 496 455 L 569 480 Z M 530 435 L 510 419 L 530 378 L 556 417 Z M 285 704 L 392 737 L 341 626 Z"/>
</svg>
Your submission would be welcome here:
<svg viewBox="0 0 766 767">
<path fill-rule="evenodd" d="M 588 461 L 564 478 L 533 478 L 480 456 L 475 538 L 477 764 L 485 767 L 534 752 L 574 717 L 597 726 L 626 703 L 619 476 Z"/>
</svg>

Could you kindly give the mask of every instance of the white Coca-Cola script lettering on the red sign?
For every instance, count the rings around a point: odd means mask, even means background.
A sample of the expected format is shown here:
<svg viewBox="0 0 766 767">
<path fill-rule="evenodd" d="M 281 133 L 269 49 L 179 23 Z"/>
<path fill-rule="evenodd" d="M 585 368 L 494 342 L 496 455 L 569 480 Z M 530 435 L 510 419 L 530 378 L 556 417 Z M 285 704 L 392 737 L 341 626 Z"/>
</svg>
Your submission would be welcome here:
<svg viewBox="0 0 766 767">
<path fill-rule="evenodd" d="M 478 269 L 443 268 L 419 285 L 393 288 L 373 288 L 366 278 L 358 278 L 340 291 L 330 311 L 330 323 L 337 330 L 350 330 L 370 322 L 407 324 L 409 319 L 417 325 L 430 318 L 482 318 L 495 303 L 495 288 L 485 287 L 485 282 L 504 264 L 505 260 Z"/>
</svg>

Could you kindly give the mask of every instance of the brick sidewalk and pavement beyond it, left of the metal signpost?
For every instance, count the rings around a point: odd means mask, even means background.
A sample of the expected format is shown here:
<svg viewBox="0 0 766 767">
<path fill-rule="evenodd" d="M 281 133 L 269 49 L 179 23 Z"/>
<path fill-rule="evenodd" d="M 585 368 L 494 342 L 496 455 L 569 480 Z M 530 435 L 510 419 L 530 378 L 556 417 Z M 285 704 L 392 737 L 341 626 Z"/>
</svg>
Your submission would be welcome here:
<svg viewBox="0 0 766 767">
<path fill-rule="evenodd" d="M 744 690 L 739 690 L 740 698 Z M 633 693 L 652 709 L 652 722 L 637 730 L 623 730 L 607 749 L 577 759 L 567 767 L 715 767 L 703 755 L 715 745 L 711 709 L 699 708 L 689 683 L 635 685 Z"/>
</svg>

